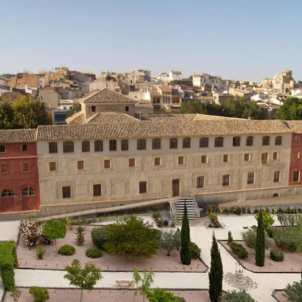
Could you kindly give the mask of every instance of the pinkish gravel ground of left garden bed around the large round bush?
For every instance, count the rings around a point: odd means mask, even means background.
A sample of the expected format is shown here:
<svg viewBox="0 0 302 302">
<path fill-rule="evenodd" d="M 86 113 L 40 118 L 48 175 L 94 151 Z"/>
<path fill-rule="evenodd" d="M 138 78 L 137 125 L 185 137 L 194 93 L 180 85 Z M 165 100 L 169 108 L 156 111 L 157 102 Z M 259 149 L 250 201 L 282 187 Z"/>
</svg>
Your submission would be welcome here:
<svg viewBox="0 0 302 302">
<path fill-rule="evenodd" d="M 171 256 L 167 256 L 166 251 L 158 249 L 156 255 L 153 255 L 152 258 L 138 258 L 138 259 L 125 259 L 117 256 L 110 256 L 105 251 L 103 251 L 103 256 L 100 258 L 88 258 L 85 255 L 85 252 L 88 248 L 95 248 L 92 243 L 90 232 L 93 229 L 92 225 L 87 225 L 85 230 L 85 239 L 86 242 L 84 246 L 78 246 L 75 243 L 74 234 L 76 226 L 73 226 L 72 230 L 67 228 L 67 234 L 64 239 L 57 240 L 57 249 L 62 245 L 72 245 L 76 252 L 72 256 L 62 256 L 55 254 L 55 246 L 53 245 L 44 245 L 43 242 L 40 242 L 38 246 L 41 246 L 45 249 L 44 258 L 42 260 L 37 259 L 36 248 L 33 246 L 31 250 L 28 246 L 24 245 L 23 239 L 20 238 L 19 244 L 17 247 L 17 255 L 19 261 L 19 267 L 21 268 L 40 268 L 40 269 L 64 269 L 66 265 L 70 265 L 71 261 L 74 258 L 77 258 L 81 261 L 82 264 L 86 262 L 91 262 L 100 267 L 102 271 L 132 271 L 133 266 L 136 266 L 139 271 L 142 271 L 143 268 L 153 271 L 160 272 L 206 272 L 207 267 L 199 259 L 192 259 L 191 265 L 182 265 L 180 262 L 180 252 L 174 251 L 171 253 Z"/>
</svg>

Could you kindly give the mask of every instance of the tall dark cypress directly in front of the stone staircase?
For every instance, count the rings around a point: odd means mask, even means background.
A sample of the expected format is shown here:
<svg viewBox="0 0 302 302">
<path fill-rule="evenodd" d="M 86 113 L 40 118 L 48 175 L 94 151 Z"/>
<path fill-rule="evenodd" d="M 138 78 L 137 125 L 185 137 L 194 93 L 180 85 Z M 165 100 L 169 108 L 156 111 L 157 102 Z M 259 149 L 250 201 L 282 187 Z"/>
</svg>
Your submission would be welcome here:
<svg viewBox="0 0 302 302">
<path fill-rule="evenodd" d="M 181 249 L 180 260 L 182 264 L 189 265 L 191 263 L 190 253 L 190 226 L 187 212 L 187 205 L 185 203 L 184 213 L 181 224 Z"/>
</svg>

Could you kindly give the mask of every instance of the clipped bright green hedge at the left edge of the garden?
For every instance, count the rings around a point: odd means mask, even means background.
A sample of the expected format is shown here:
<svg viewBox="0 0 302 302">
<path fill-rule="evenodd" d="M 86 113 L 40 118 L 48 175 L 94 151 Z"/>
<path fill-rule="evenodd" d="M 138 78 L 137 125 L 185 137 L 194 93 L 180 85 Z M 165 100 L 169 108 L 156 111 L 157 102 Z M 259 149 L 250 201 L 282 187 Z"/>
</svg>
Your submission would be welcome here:
<svg viewBox="0 0 302 302">
<path fill-rule="evenodd" d="M 17 246 L 13 240 L 0 243 L 0 276 L 8 291 L 15 287 L 14 267 L 18 266 Z"/>
</svg>

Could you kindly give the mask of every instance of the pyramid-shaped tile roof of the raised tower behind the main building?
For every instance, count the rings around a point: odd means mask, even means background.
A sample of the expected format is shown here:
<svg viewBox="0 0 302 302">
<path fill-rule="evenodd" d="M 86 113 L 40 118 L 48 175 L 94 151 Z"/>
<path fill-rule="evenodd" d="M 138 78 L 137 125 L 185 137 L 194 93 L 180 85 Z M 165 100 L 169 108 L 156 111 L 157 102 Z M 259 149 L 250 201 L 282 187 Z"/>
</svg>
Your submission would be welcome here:
<svg viewBox="0 0 302 302">
<path fill-rule="evenodd" d="M 136 102 L 137 102 L 136 100 L 126 97 L 119 92 L 109 90 L 108 88 L 97 91 L 95 94 L 86 97 L 83 101 L 84 104 L 136 103 Z"/>
</svg>

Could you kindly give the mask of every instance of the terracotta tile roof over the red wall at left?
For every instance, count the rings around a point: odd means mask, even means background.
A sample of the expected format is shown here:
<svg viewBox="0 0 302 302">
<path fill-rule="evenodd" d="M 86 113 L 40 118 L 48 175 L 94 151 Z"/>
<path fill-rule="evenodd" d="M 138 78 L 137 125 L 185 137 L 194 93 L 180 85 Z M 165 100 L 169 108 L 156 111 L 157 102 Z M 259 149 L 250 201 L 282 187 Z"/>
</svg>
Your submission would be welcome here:
<svg viewBox="0 0 302 302">
<path fill-rule="evenodd" d="M 0 143 L 35 142 L 37 129 L 0 130 Z"/>
</svg>

